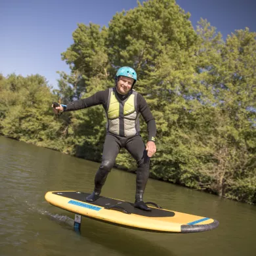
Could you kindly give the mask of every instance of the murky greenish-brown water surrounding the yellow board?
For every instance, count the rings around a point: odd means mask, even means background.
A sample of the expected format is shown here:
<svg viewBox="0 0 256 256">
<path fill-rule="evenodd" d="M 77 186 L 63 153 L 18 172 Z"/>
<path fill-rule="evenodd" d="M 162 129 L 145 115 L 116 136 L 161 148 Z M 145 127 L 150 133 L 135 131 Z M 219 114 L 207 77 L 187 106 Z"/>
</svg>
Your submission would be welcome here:
<svg viewBox="0 0 256 256">
<path fill-rule="evenodd" d="M 150 179 L 144 199 L 217 219 L 215 230 L 158 234 L 82 219 L 45 202 L 47 191 L 93 190 L 98 163 L 0 137 L 0 255 L 256 255 L 256 207 Z M 133 202 L 135 175 L 113 169 L 102 195 Z"/>
</svg>

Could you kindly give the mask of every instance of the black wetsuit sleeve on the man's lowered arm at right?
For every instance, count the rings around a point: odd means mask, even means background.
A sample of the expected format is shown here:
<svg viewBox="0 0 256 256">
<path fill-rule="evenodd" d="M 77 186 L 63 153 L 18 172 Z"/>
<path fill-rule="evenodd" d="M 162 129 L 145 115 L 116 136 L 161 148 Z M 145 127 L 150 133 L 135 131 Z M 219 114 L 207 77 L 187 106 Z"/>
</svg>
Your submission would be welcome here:
<svg viewBox="0 0 256 256">
<path fill-rule="evenodd" d="M 152 115 L 146 100 L 142 95 L 137 95 L 138 110 L 148 126 L 148 141 L 156 141 L 156 121 Z"/>
</svg>

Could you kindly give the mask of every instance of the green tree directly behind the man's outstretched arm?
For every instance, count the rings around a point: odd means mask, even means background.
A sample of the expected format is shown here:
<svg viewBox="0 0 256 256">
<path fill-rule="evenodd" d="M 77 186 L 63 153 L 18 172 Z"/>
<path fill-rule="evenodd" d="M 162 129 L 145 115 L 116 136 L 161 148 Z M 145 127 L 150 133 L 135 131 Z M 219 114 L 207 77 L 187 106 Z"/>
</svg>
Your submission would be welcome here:
<svg viewBox="0 0 256 256">
<path fill-rule="evenodd" d="M 78 24 L 73 33 L 74 43 L 62 53 L 62 59 L 70 65 L 71 75 L 62 73 L 59 90 L 54 91 L 64 103 L 91 96 L 96 91 L 113 86 L 114 80 L 111 81 L 108 74 L 106 35 L 107 29 L 104 27 L 100 29 L 95 24 Z M 102 107 L 65 115 L 66 118 L 62 117 L 62 120 L 68 136 L 64 152 L 98 161 L 106 123 Z"/>
</svg>

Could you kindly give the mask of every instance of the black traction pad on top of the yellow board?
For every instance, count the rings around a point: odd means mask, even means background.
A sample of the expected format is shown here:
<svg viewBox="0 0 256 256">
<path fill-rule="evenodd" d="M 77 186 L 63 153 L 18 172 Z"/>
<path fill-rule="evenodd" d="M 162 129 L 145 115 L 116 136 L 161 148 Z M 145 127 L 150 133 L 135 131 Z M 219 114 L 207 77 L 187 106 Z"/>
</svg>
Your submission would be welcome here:
<svg viewBox="0 0 256 256">
<path fill-rule="evenodd" d="M 124 201 L 116 200 L 112 198 L 105 198 L 104 196 L 100 196 L 95 202 L 88 202 L 86 200 L 86 197 L 89 196 L 89 193 L 85 193 L 85 192 L 58 191 L 58 192 L 53 192 L 53 194 L 56 194 L 58 196 L 64 196 L 65 198 L 70 198 L 72 200 L 78 200 L 81 202 L 90 203 L 91 205 L 96 205 L 100 207 L 110 207 L 112 205 L 117 205 L 119 207 L 123 207 L 123 209 L 125 209 L 129 213 L 133 213 L 133 214 L 137 214 L 145 217 L 175 216 L 175 213 L 173 211 L 166 211 L 165 209 L 158 209 L 158 208 L 151 208 L 152 211 L 142 211 L 138 208 L 135 208 L 133 203 L 124 202 Z"/>
</svg>

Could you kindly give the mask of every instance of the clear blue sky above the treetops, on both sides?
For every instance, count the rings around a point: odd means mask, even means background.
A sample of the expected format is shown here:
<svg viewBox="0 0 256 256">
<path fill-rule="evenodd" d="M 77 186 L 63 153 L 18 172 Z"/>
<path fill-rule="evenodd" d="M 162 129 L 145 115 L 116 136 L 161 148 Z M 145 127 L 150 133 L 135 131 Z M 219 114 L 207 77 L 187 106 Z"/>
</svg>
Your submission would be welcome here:
<svg viewBox="0 0 256 256">
<path fill-rule="evenodd" d="M 224 38 L 245 27 L 256 32 L 255 0 L 177 3 L 190 12 L 194 27 L 202 17 Z M 108 26 L 116 12 L 136 6 L 136 0 L 0 0 L 0 73 L 40 74 L 56 88 L 56 71 L 70 72 L 60 53 L 73 43 L 77 23 Z"/>
</svg>

